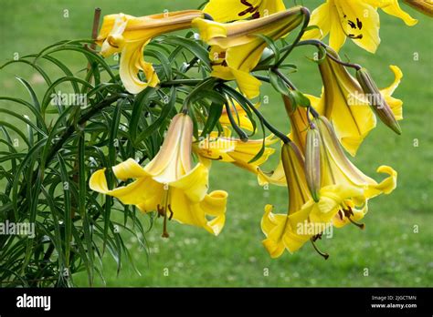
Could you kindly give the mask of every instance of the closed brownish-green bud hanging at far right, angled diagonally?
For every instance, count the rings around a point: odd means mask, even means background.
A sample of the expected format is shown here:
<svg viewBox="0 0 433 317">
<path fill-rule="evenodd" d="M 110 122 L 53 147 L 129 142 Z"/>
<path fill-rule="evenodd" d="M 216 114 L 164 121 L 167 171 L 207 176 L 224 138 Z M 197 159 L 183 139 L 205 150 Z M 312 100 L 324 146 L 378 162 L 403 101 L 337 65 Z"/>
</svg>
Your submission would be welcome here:
<svg viewBox="0 0 433 317">
<path fill-rule="evenodd" d="M 386 103 L 385 98 L 375 85 L 375 81 L 370 77 L 370 74 L 368 74 L 368 71 L 365 68 L 357 70 L 356 78 L 363 88 L 364 94 L 368 97 L 368 102 L 377 117 L 379 117 L 386 126 L 396 132 L 396 134 L 401 134 L 401 128 L 396 120 L 396 116 L 394 116 L 391 107 Z"/>
</svg>

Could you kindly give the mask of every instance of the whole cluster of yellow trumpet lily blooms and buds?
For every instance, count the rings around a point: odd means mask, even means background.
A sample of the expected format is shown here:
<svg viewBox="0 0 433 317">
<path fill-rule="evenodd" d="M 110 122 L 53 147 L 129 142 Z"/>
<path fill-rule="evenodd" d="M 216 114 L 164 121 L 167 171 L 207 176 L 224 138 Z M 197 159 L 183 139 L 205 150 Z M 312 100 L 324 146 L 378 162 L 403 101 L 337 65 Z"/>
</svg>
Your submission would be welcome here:
<svg viewBox="0 0 433 317">
<path fill-rule="evenodd" d="M 168 236 L 166 223 L 171 219 L 217 235 L 226 220 L 227 192 L 208 193 L 208 175 L 211 161 L 218 160 L 255 173 L 261 185 L 287 186 L 287 212 L 273 213 L 273 207 L 267 205 L 261 220 L 266 236 L 263 245 L 273 258 L 285 250 L 299 250 L 308 240 L 318 251 L 314 241 L 326 228 L 348 223 L 364 228 L 358 221 L 368 210 L 368 200 L 393 191 L 397 174 L 390 167 L 380 166 L 377 172 L 385 173 L 386 178 L 377 182 L 357 169 L 344 150 L 354 156 L 375 128 L 377 117 L 401 132 L 396 120 L 402 119 L 402 101 L 392 94 L 403 75 L 397 66 L 390 66 L 396 79 L 390 87 L 379 90 L 361 67 L 356 68 L 357 76 L 352 76 L 337 52 L 347 37 L 375 52 L 380 43 L 379 8 L 401 18 L 407 26 L 417 24 L 396 0 L 327 0 L 312 12 L 310 25 L 314 27 L 309 27 L 301 40 L 317 41 L 329 35 L 330 43 L 323 45 L 325 56 L 319 63 L 322 97 L 307 95 L 311 102 L 307 108 L 294 106 L 284 96 L 291 131 L 288 139 L 283 139 L 280 163 L 272 172 L 260 166 L 276 152 L 270 146 L 278 139 L 273 135 L 247 141 L 232 138 L 234 117 L 239 128 L 254 132 L 255 125 L 244 107 L 227 97 L 233 107 L 222 110 L 219 117 L 223 133 L 212 132 L 195 140 L 193 120 L 181 112 L 172 118 L 162 147 L 145 167 L 130 158 L 112 168 L 118 179 L 134 179 L 132 183 L 109 189 L 106 171 L 100 169 L 92 175 L 90 188 L 143 212 L 156 211 L 164 217 L 164 237 Z M 121 54 L 121 81 L 127 91 L 138 94 L 160 83 L 153 65 L 143 59 L 144 47 L 155 36 L 195 28 L 209 46 L 210 76 L 236 82 L 238 92 L 252 99 L 259 97 L 261 85 L 253 71 L 269 40 L 282 39 L 301 26 L 305 10 L 301 6 L 286 9 L 282 0 L 210 0 L 202 11 L 143 17 L 107 15 L 97 43 L 102 56 Z M 139 76 L 140 71 L 146 81 Z M 372 102 L 365 97 L 368 93 L 379 95 L 379 100 Z M 259 108 L 259 104 L 254 107 Z"/>
</svg>

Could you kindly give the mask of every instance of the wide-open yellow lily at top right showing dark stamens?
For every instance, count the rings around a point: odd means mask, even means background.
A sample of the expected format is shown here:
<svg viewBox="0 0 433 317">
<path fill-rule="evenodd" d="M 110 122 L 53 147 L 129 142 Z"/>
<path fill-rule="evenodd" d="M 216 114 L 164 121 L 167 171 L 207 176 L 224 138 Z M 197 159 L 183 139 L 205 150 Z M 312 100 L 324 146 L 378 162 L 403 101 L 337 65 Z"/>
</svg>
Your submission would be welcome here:
<svg viewBox="0 0 433 317">
<path fill-rule="evenodd" d="M 329 34 L 329 44 L 338 52 L 349 37 L 357 46 L 375 53 L 380 44 L 377 8 L 399 17 L 407 26 L 417 24 L 416 19 L 400 8 L 397 0 L 327 0 L 312 11 L 310 25 L 319 26 L 320 30 L 307 31 L 302 38 L 322 39 Z"/>
</svg>

